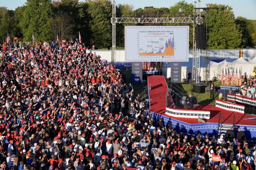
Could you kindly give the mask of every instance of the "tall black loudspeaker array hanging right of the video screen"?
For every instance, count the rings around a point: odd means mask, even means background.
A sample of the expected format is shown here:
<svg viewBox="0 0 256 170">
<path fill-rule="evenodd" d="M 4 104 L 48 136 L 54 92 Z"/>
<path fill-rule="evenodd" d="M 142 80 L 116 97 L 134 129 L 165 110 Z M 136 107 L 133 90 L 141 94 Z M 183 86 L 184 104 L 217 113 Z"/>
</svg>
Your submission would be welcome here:
<svg viewBox="0 0 256 170">
<path fill-rule="evenodd" d="M 196 26 L 196 43 L 198 49 L 203 50 L 206 48 L 206 33 L 204 25 Z"/>
</svg>

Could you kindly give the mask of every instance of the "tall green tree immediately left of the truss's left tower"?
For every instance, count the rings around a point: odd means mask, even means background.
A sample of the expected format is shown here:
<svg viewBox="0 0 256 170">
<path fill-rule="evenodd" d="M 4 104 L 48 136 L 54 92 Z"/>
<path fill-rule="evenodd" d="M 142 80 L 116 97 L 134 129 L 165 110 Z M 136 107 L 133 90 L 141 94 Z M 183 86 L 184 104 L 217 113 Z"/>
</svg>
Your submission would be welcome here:
<svg viewBox="0 0 256 170">
<path fill-rule="evenodd" d="M 89 0 L 87 12 L 90 15 L 88 26 L 91 31 L 90 43 L 96 48 L 112 46 L 112 3 L 110 0 Z"/>
</svg>

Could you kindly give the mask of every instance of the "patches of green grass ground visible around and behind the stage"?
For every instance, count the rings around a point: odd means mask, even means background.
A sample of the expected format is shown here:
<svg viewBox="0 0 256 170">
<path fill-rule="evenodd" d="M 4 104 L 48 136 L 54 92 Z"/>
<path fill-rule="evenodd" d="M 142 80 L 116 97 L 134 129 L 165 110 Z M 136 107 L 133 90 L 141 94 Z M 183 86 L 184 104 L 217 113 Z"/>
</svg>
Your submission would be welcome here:
<svg viewBox="0 0 256 170">
<path fill-rule="evenodd" d="M 137 96 L 138 94 L 141 94 L 141 92 L 143 90 L 146 89 L 146 85 L 142 85 L 142 84 L 137 84 L 137 83 L 132 83 L 132 71 L 124 71 L 124 73 L 126 74 L 126 83 L 131 83 L 133 85 L 133 88 L 135 89 L 135 96 Z M 168 80 L 166 80 L 168 81 Z M 221 86 L 221 81 L 217 80 L 213 82 L 215 84 L 215 86 Z M 197 96 L 197 100 L 198 100 L 198 104 L 213 104 L 215 105 L 215 99 L 219 99 L 219 96 L 217 94 L 217 92 L 215 92 L 214 94 L 214 99 L 210 98 L 210 93 L 196 93 L 193 92 L 193 86 L 189 85 L 188 83 L 177 83 L 177 85 L 179 87 L 181 87 L 183 90 L 185 90 L 187 92 L 187 94 L 193 94 L 193 96 Z M 235 87 L 236 85 L 230 85 L 232 87 Z M 223 101 L 227 101 L 227 97 L 222 97 Z M 245 113 L 249 113 L 249 114 L 256 114 L 256 107 L 255 110 L 253 109 L 253 107 L 251 106 L 245 106 Z"/>
</svg>

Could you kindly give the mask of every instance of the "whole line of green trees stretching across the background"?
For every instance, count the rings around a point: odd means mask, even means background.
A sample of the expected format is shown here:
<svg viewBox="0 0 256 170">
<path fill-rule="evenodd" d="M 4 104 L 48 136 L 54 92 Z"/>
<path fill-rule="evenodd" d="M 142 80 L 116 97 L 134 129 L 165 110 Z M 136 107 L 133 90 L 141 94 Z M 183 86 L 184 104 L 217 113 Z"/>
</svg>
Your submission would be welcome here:
<svg viewBox="0 0 256 170">
<path fill-rule="evenodd" d="M 207 7 L 218 7 L 207 13 L 207 24 L 210 29 L 207 44 L 211 49 L 234 49 L 256 46 L 256 20 L 244 17 L 234 17 L 232 7 L 221 4 L 207 4 Z M 133 5 L 118 4 L 117 13 L 124 16 L 130 12 L 193 12 L 193 4 L 185 1 L 177 2 L 171 7 L 144 7 L 134 9 Z M 203 13 L 202 13 L 203 14 Z M 204 14 L 203 14 L 204 15 Z M 111 0 L 27 0 L 25 5 L 15 10 L 0 7 L 0 38 L 6 41 L 7 32 L 11 39 L 18 37 L 19 41 L 32 41 L 34 34 L 38 41 L 56 41 L 59 39 L 75 40 L 78 32 L 82 42 L 88 46 L 95 44 L 96 48 L 112 46 Z M 124 27 L 134 24 L 117 24 L 117 46 L 124 47 Z M 142 25 L 142 24 L 140 24 Z M 180 24 L 157 24 L 180 25 Z M 186 24 L 184 24 L 186 25 Z M 208 31 L 209 31 L 208 29 Z M 189 28 L 189 46 L 193 43 L 193 25 Z"/>
</svg>

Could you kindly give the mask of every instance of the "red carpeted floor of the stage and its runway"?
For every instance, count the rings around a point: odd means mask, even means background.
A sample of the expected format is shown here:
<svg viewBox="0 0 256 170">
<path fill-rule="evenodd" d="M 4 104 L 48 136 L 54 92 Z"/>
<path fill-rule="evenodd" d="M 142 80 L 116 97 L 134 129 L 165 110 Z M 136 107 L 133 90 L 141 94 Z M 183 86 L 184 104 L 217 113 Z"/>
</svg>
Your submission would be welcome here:
<svg viewBox="0 0 256 170">
<path fill-rule="evenodd" d="M 151 84 L 151 89 L 150 89 Z M 165 119 L 165 123 L 173 123 L 177 122 L 179 124 L 185 123 L 185 126 L 188 124 L 191 126 L 187 126 L 187 128 L 191 129 L 193 126 L 199 126 L 200 124 L 204 124 L 203 126 L 207 126 L 207 124 L 216 126 L 219 122 L 222 124 L 234 124 L 236 127 L 244 127 L 246 129 L 252 129 L 256 137 L 256 116 L 250 115 L 246 113 L 238 113 L 234 111 L 225 110 L 222 108 L 218 108 L 212 104 L 202 104 L 193 107 L 193 110 L 204 110 L 210 111 L 210 119 L 204 119 L 205 123 L 198 122 L 198 119 L 193 118 L 184 118 L 184 117 L 172 117 L 166 114 L 166 91 L 168 89 L 166 80 L 164 76 L 148 76 L 148 91 L 150 101 L 150 109 L 148 111 L 152 111 L 155 114 L 155 118 L 163 117 Z M 177 109 L 183 110 L 183 109 Z M 149 112 L 148 112 L 149 113 Z M 234 117 L 235 114 L 235 117 Z M 234 119 L 235 118 L 235 119 Z M 193 128 L 192 128 L 193 129 Z M 197 129 L 198 130 L 198 129 Z M 251 132 L 252 133 L 252 132 Z"/>
</svg>

